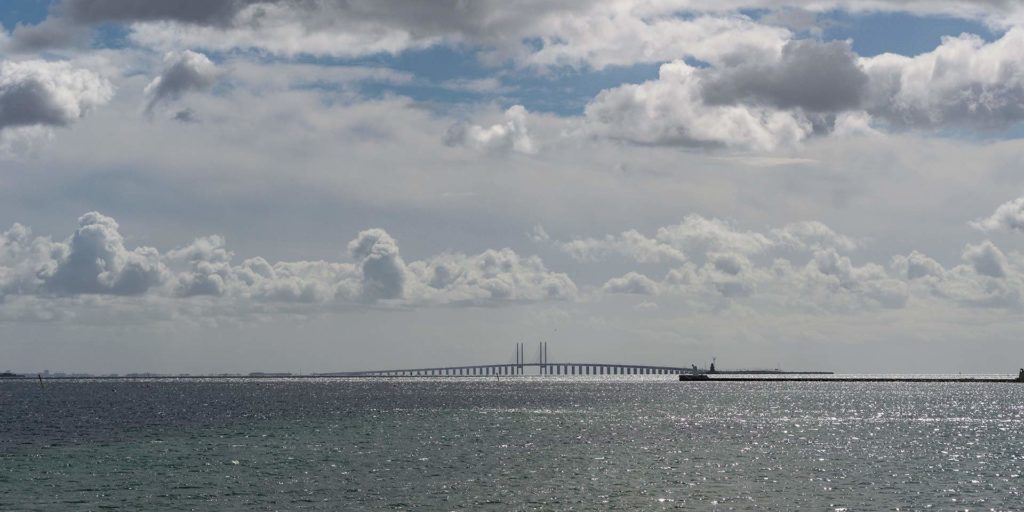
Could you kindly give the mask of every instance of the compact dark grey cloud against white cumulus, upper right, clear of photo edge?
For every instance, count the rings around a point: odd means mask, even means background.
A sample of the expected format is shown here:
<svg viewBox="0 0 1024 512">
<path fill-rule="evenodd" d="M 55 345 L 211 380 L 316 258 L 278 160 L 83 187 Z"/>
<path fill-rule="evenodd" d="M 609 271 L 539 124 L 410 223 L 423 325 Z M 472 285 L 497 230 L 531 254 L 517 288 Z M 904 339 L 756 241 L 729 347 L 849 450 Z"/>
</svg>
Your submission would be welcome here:
<svg viewBox="0 0 1024 512">
<path fill-rule="evenodd" d="M 718 70 L 701 89 L 709 104 L 763 103 L 836 113 L 860 106 L 867 74 L 846 41 L 790 41 L 778 61 L 750 60 Z"/>
</svg>

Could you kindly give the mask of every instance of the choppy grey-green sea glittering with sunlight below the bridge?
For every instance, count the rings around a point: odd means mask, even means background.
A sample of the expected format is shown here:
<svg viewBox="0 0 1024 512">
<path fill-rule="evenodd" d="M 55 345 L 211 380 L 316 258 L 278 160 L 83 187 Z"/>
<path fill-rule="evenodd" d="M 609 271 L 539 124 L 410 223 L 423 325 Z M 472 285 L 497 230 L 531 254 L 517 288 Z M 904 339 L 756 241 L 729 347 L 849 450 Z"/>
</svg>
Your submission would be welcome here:
<svg viewBox="0 0 1024 512">
<path fill-rule="evenodd" d="M 1013 510 L 1024 385 L 0 382 L 0 510 Z"/>
</svg>

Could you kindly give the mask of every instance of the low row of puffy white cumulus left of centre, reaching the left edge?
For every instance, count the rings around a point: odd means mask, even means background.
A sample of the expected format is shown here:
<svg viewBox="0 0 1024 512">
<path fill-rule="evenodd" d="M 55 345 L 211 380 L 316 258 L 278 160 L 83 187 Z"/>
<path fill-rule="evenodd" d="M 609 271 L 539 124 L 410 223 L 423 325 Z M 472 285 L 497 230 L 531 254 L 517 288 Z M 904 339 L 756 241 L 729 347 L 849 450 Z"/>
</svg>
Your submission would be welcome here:
<svg viewBox="0 0 1024 512">
<path fill-rule="evenodd" d="M 90 212 L 62 242 L 14 224 L 0 233 L 0 307 L 5 298 L 40 301 L 81 296 L 206 297 L 240 310 L 256 304 L 498 305 L 577 298 L 564 273 L 510 249 L 445 253 L 406 263 L 383 229 L 349 242 L 351 261 L 233 261 L 222 237 L 201 237 L 161 254 L 129 249 L 113 218 Z"/>
</svg>

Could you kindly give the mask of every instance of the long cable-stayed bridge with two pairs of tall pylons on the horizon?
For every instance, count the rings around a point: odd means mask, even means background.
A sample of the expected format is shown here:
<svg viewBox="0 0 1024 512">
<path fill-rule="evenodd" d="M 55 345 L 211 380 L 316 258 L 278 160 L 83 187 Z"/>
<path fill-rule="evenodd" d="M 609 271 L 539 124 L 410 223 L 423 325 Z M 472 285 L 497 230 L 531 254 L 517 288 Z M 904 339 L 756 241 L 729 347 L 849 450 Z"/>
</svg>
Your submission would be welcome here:
<svg viewBox="0 0 1024 512">
<path fill-rule="evenodd" d="M 516 375 L 678 375 L 705 374 L 695 366 L 628 365 L 621 362 L 570 362 L 548 360 L 548 344 L 541 342 L 536 362 L 525 361 L 525 344 L 516 343 L 515 362 L 457 367 L 406 368 L 316 374 L 325 377 L 486 377 Z"/>
</svg>

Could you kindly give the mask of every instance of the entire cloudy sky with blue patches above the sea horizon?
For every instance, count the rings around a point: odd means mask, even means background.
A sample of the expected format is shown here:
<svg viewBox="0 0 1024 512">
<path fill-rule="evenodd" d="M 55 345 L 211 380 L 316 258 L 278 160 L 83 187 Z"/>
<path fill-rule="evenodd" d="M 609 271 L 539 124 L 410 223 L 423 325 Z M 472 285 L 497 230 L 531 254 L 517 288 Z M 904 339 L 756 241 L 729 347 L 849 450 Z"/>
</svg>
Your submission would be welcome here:
<svg viewBox="0 0 1024 512">
<path fill-rule="evenodd" d="M 1018 2 L 0 24 L 0 372 L 1024 366 Z"/>
</svg>

